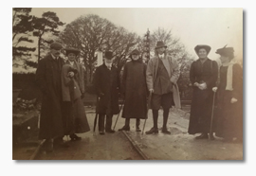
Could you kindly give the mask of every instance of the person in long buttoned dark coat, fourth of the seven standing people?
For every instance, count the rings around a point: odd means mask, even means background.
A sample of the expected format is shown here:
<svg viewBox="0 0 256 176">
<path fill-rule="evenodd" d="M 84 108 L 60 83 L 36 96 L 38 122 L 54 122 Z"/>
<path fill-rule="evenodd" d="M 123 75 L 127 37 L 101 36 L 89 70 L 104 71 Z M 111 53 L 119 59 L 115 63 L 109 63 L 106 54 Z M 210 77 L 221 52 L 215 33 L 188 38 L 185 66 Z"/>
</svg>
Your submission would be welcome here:
<svg viewBox="0 0 256 176">
<path fill-rule="evenodd" d="M 139 58 L 137 49 L 132 51 L 130 58 L 132 60 L 124 65 L 122 74 L 121 87 L 125 99 L 122 117 L 125 118 L 125 124 L 119 131 L 130 131 L 130 118 L 135 118 L 136 131 L 141 132 L 139 119 L 147 117 L 147 66 Z"/>
</svg>

